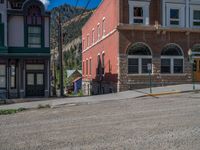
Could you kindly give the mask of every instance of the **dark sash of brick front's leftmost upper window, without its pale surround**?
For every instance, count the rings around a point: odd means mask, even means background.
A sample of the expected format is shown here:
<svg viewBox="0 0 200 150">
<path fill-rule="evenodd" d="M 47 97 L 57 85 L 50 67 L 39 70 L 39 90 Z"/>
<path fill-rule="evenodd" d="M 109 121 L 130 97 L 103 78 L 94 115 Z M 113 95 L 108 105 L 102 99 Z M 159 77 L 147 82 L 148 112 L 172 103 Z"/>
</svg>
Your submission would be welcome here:
<svg viewBox="0 0 200 150">
<path fill-rule="evenodd" d="M 133 22 L 134 23 L 144 23 L 144 15 L 142 7 L 134 7 L 133 8 Z"/>
</svg>

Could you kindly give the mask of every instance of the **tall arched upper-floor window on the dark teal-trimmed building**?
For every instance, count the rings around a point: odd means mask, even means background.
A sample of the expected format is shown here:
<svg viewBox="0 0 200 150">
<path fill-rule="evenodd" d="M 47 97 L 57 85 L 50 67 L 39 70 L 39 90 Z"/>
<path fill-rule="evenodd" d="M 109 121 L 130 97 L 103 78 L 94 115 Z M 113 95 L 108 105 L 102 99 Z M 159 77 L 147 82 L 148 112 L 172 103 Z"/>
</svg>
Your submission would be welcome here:
<svg viewBox="0 0 200 150">
<path fill-rule="evenodd" d="M 37 5 L 31 5 L 27 12 L 28 47 L 40 48 L 42 43 L 41 9 Z"/>
</svg>

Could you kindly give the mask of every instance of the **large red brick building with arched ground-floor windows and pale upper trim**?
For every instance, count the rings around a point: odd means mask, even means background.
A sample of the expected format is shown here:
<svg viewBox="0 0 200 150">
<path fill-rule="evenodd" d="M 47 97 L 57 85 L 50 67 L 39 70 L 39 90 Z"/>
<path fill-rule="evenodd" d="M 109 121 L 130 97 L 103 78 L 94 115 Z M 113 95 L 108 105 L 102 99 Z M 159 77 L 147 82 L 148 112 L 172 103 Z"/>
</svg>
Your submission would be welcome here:
<svg viewBox="0 0 200 150">
<path fill-rule="evenodd" d="M 200 52 L 200 1 L 103 0 L 82 29 L 86 95 L 189 83 Z M 200 57 L 193 55 L 195 81 Z"/>
</svg>

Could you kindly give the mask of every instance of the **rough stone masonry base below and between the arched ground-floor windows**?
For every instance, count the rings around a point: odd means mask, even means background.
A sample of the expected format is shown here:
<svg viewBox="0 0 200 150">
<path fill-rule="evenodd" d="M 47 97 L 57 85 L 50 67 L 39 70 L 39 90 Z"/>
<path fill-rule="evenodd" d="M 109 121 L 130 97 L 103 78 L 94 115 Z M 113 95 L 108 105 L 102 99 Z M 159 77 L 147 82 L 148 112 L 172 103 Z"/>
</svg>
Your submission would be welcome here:
<svg viewBox="0 0 200 150">
<path fill-rule="evenodd" d="M 147 88 L 149 87 L 149 75 L 129 75 L 128 74 L 128 64 L 127 64 L 127 55 L 120 55 L 120 67 L 119 67 L 119 79 L 118 79 L 118 92 Z M 167 85 L 175 85 L 175 84 L 186 84 L 191 83 L 192 75 L 191 75 L 191 64 L 188 59 L 184 59 L 184 73 L 182 74 L 161 74 L 160 73 L 160 58 L 153 58 L 153 74 L 152 78 L 152 86 L 167 86 Z"/>
</svg>

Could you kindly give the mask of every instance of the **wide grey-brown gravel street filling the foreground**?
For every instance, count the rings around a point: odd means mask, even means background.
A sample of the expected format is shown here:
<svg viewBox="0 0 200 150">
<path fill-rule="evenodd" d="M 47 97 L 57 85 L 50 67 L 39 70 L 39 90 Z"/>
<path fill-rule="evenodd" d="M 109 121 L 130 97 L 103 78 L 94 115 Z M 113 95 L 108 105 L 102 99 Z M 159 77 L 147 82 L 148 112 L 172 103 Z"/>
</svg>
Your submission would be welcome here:
<svg viewBox="0 0 200 150">
<path fill-rule="evenodd" d="M 200 94 L 0 116 L 0 150 L 199 150 Z"/>
</svg>

